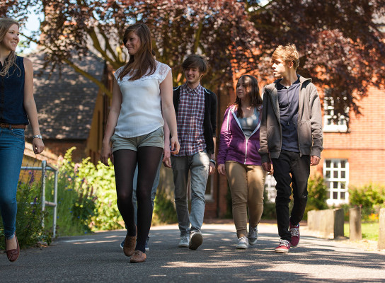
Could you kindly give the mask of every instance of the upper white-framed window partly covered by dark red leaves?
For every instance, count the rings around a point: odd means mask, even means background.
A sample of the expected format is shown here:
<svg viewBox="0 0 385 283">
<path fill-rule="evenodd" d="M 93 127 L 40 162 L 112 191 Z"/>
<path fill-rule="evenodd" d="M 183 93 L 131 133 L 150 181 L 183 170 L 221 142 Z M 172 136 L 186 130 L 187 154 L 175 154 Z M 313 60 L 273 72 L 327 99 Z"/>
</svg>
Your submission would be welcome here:
<svg viewBox="0 0 385 283">
<path fill-rule="evenodd" d="M 335 124 L 334 99 L 328 96 L 323 98 L 323 132 L 347 132 L 346 120 L 349 118 L 349 108 L 345 109 L 345 115 L 338 117 Z"/>
</svg>

